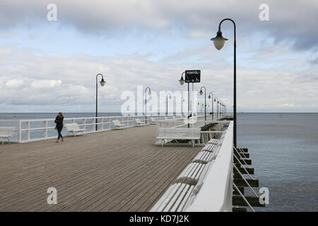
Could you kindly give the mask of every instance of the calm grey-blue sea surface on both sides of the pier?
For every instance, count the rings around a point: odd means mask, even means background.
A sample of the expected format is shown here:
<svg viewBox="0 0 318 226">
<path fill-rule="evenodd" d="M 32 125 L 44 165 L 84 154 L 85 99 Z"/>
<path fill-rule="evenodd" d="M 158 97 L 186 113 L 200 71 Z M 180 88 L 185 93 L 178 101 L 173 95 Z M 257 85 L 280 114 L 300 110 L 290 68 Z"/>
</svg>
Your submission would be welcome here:
<svg viewBox="0 0 318 226">
<path fill-rule="evenodd" d="M 94 117 L 94 113 L 64 115 Z M 99 114 L 114 115 L 118 114 Z M 0 114 L 0 119 L 50 119 L 55 116 L 56 113 L 20 113 L 14 117 L 6 113 Z M 269 205 L 256 208 L 257 211 L 318 211 L 317 113 L 237 114 L 237 142 L 249 148 L 259 187 L 269 188 Z"/>
</svg>

